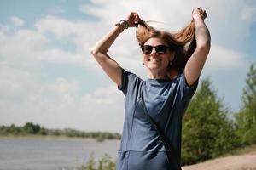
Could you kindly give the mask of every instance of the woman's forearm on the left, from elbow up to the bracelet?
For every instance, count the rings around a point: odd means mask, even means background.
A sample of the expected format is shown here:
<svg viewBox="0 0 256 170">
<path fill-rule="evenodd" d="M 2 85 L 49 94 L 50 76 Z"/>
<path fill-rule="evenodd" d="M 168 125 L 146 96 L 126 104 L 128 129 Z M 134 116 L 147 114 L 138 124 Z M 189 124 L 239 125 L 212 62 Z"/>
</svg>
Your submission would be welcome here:
<svg viewBox="0 0 256 170">
<path fill-rule="evenodd" d="M 91 54 L 107 54 L 108 49 L 111 47 L 115 39 L 119 36 L 119 34 L 124 31 L 125 23 L 123 22 L 119 26 L 115 26 L 112 31 L 109 31 L 108 34 L 99 42 L 96 42 L 96 45 L 91 49 Z"/>
</svg>

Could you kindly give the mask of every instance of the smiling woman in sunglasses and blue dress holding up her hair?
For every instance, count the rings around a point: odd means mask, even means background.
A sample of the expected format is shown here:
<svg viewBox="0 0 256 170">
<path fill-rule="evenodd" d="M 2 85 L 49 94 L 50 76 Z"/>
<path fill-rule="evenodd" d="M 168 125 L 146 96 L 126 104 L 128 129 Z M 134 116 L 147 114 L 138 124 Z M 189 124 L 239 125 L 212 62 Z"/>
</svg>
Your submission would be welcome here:
<svg viewBox="0 0 256 170">
<path fill-rule="evenodd" d="M 210 34 L 201 8 L 189 26 L 169 33 L 148 26 L 137 13 L 121 20 L 92 48 L 91 54 L 125 94 L 125 122 L 118 170 L 181 169 L 181 124 L 210 50 Z M 108 48 L 128 27 L 137 27 L 148 80 L 125 71 Z"/>
</svg>

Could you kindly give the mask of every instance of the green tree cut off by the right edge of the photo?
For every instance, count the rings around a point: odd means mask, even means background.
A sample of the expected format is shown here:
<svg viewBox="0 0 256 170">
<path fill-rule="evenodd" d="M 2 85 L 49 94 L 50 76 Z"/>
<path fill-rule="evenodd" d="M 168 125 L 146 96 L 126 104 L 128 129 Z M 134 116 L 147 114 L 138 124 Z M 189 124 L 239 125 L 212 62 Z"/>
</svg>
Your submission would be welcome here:
<svg viewBox="0 0 256 170">
<path fill-rule="evenodd" d="M 236 114 L 236 133 L 241 144 L 256 144 L 256 64 L 250 65 L 246 87 L 241 96 L 241 110 Z"/>
</svg>

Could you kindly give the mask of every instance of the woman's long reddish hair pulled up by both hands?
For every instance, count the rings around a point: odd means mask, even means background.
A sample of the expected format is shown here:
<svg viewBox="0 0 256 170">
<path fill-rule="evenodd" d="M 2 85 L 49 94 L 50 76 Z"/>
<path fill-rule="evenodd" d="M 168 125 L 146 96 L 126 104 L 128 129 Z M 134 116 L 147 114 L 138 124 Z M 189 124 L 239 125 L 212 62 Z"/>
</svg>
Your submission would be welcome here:
<svg viewBox="0 0 256 170">
<path fill-rule="evenodd" d="M 153 26 L 140 20 L 137 24 L 136 37 L 140 46 L 143 46 L 151 37 L 158 37 L 166 42 L 171 51 L 174 52 L 174 59 L 168 71 L 176 71 L 178 74 L 183 72 L 187 61 L 196 48 L 195 22 L 193 20 L 188 26 L 175 33 L 156 30 Z"/>
</svg>

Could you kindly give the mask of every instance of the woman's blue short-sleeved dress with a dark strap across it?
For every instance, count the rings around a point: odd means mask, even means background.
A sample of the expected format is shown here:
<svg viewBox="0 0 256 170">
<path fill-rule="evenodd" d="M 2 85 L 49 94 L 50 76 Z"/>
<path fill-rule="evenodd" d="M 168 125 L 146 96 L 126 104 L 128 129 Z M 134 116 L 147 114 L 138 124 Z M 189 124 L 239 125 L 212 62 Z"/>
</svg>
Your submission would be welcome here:
<svg viewBox="0 0 256 170">
<path fill-rule="evenodd" d="M 171 142 L 180 167 L 182 118 L 197 84 L 198 80 L 189 87 L 183 74 L 173 80 L 143 81 L 122 71 L 119 89 L 125 94 L 125 122 L 116 170 L 177 170 L 168 163 L 160 136 L 145 116 L 142 95 L 148 114 Z"/>
</svg>

